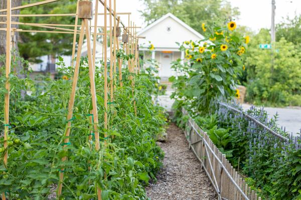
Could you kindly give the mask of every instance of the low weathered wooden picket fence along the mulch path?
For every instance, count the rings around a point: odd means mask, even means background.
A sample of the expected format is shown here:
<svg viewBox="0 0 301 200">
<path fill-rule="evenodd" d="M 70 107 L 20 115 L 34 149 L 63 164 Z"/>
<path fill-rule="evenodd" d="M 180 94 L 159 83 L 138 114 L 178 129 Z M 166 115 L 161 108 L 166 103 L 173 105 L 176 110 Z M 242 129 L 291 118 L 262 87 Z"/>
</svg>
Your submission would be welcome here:
<svg viewBox="0 0 301 200">
<path fill-rule="evenodd" d="M 186 110 L 182 110 L 188 115 Z M 196 122 L 189 116 L 184 130 L 190 149 L 202 163 L 219 200 L 261 200 L 244 178 L 233 168 L 225 154 L 215 146 Z"/>
</svg>

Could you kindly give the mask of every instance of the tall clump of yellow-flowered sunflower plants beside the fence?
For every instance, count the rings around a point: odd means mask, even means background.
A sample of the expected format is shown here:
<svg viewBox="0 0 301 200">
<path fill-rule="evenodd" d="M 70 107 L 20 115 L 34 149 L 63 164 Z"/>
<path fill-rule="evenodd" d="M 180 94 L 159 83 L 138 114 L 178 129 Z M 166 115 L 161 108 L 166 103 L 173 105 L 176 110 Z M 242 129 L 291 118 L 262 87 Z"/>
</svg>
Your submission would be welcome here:
<svg viewBox="0 0 301 200">
<path fill-rule="evenodd" d="M 238 33 L 226 27 L 205 27 L 205 39 L 181 44 L 187 61 L 174 61 L 172 68 L 182 75 L 170 78 L 176 88 L 171 97 L 189 102 L 186 108 L 193 108 L 195 113 L 208 113 L 216 98 L 234 96 L 243 68 L 240 55 L 245 52 L 244 39 Z M 205 42 L 209 38 L 215 39 Z"/>
</svg>

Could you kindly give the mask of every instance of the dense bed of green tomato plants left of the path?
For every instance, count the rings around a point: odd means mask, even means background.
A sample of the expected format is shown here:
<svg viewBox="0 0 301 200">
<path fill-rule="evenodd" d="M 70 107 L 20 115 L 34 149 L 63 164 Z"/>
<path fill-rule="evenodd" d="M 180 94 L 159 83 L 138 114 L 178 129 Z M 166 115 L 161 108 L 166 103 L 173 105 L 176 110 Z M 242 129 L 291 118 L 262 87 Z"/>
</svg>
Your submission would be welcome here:
<svg viewBox="0 0 301 200">
<path fill-rule="evenodd" d="M 92 105 L 86 60 L 82 59 L 80 64 L 70 144 L 65 148 L 61 144 L 66 138 L 73 67 L 64 66 L 60 59 L 62 72 L 69 80 L 44 78 L 34 82 L 10 76 L 12 127 L 7 149 L 3 147 L 3 137 L 0 138 L 1 155 L 9 153 L 7 166 L 0 161 L 0 192 L 7 192 L 10 199 L 48 199 L 51 187 L 56 187 L 59 181 L 61 168 L 65 168 L 65 177 L 60 199 L 96 198 L 97 186 L 102 190 L 102 199 L 147 199 L 143 186 L 150 178 L 156 179 L 164 156 L 153 138 L 164 131 L 166 125 L 163 108 L 153 104 L 149 93 L 149 88 L 156 84 L 148 79 L 154 73 L 149 70 L 149 73 L 136 75 L 123 70 L 123 87 L 116 86 L 114 102 L 108 105 L 109 130 L 105 130 L 103 65 L 95 65 L 101 146 L 96 151 L 94 139 L 88 138 L 92 124 L 87 114 Z M 129 75 L 135 79 L 134 92 Z M 5 76 L 0 80 L 4 85 Z M 21 90 L 31 95 L 22 97 Z M 2 107 L 6 92 L 0 90 Z M 3 116 L 0 110 L 1 122 Z M 68 161 L 61 160 L 64 156 L 68 156 Z"/>
</svg>

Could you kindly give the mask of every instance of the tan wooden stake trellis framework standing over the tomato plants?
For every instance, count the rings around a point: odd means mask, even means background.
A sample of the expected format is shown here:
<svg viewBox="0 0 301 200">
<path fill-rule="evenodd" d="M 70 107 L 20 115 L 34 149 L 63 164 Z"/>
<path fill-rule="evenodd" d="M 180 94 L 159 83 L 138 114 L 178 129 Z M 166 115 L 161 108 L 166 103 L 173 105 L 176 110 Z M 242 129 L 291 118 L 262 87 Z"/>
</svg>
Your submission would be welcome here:
<svg viewBox="0 0 301 200">
<path fill-rule="evenodd" d="M 90 0 L 78 0 L 77 1 L 77 8 L 76 13 L 63 13 L 63 14 L 12 14 L 12 10 L 16 9 L 22 9 L 27 7 L 33 7 L 33 6 L 39 6 L 47 3 L 52 3 L 56 1 L 61 0 L 43 0 L 40 2 L 30 3 L 26 5 L 21 5 L 17 7 L 11 7 L 11 0 L 7 0 L 8 7 L 6 9 L 1 9 L 0 12 L 7 12 L 6 14 L 1 14 L 0 16 L 6 16 L 7 21 L 2 21 L 0 23 L 6 24 L 6 28 L 0 28 L 0 31 L 6 31 L 7 37 L 6 37 L 6 78 L 7 81 L 5 83 L 5 88 L 7 89 L 7 93 L 5 94 L 5 108 L 4 108 L 4 147 L 5 149 L 8 149 L 8 137 L 9 137 L 9 131 L 10 131 L 10 120 L 9 120 L 9 113 L 10 113 L 10 82 L 9 77 L 11 73 L 11 62 L 12 62 L 12 49 L 15 45 L 15 40 L 12 39 L 12 36 L 14 36 L 15 32 L 41 32 L 41 33 L 65 33 L 65 34 L 73 34 L 73 47 L 72 47 L 72 63 L 71 66 L 74 66 L 74 74 L 72 79 L 72 90 L 70 94 L 69 99 L 69 106 L 68 106 L 68 116 L 67 116 L 67 124 L 65 129 L 65 138 L 63 147 L 65 148 L 67 145 L 70 144 L 69 142 L 69 136 L 71 131 L 71 122 L 73 120 L 73 108 L 74 108 L 74 101 L 75 101 L 75 93 L 77 88 L 77 80 L 79 75 L 79 65 L 80 65 L 80 58 L 81 58 L 81 49 L 82 44 L 84 40 L 84 36 L 86 35 L 87 40 L 87 48 L 88 48 L 88 65 L 89 65 L 89 78 L 90 78 L 90 94 L 92 98 L 92 110 L 90 112 L 90 120 L 93 124 L 93 135 L 95 136 L 95 149 L 98 150 L 100 148 L 99 145 L 99 133 L 98 133 L 98 113 L 97 113 L 97 97 L 96 97 L 96 89 L 95 89 L 95 54 L 96 54 L 96 38 L 97 35 L 103 36 L 103 56 L 102 59 L 104 60 L 104 128 L 108 129 L 108 115 L 107 115 L 107 106 L 110 103 L 113 103 L 114 100 L 114 79 L 116 77 L 113 77 L 113 74 L 116 73 L 116 65 L 118 63 L 118 78 L 120 81 L 120 86 L 122 86 L 122 71 L 121 71 L 121 58 L 116 57 L 116 51 L 119 50 L 119 42 L 118 42 L 118 36 L 119 31 L 119 24 L 121 24 L 123 28 L 123 35 L 122 39 L 123 41 L 123 48 L 125 48 L 125 51 L 127 54 L 131 53 L 134 56 L 132 56 L 128 60 L 128 67 L 129 71 L 131 73 L 138 73 L 140 66 L 139 66 L 139 58 L 138 58 L 138 38 L 136 31 L 138 26 L 136 26 L 135 23 L 130 21 L 130 12 L 116 12 L 116 0 L 113 0 L 114 9 L 112 9 L 112 0 L 109 0 L 109 5 L 107 3 L 107 0 L 96 0 L 95 3 L 95 12 L 92 13 L 92 2 Z M 99 13 L 99 2 L 103 5 L 103 13 Z M 92 16 L 94 15 L 94 25 L 89 25 L 89 20 L 92 19 Z M 104 25 L 99 26 L 98 16 L 104 15 Z M 107 15 L 109 15 L 109 38 L 110 38 L 110 44 L 113 43 L 113 45 L 110 45 L 110 82 L 109 82 L 109 88 L 110 88 L 110 101 L 108 101 L 108 82 L 107 82 Z M 119 15 L 128 15 L 128 26 L 125 26 L 124 23 L 120 20 Z M 46 17 L 46 16 L 73 16 L 75 17 L 75 24 L 51 24 L 51 23 L 25 23 L 25 22 L 17 22 L 12 21 L 12 16 L 19 16 L 19 17 Z M 78 25 L 79 20 L 81 20 L 81 25 Z M 113 20 L 113 24 L 112 24 Z M 21 29 L 21 28 L 12 28 L 12 24 L 18 24 L 18 25 L 28 25 L 28 26 L 34 26 L 38 28 L 47 28 L 52 30 L 27 30 L 27 29 Z M 66 28 L 67 27 L 67 28 Z M 73 27 L 73 29 L 72 29 Z M 78 29 L 80 27 L 80 29 Z M 103 32 L 97 33 L 97 28 L 103 28 Z M 93 32 L 90 32 L 90 28 L 93 28 Z M 118 32 L 119 31 L 119 32 Z M 74 58 L 75 58 L 75 51 L 76 51 L 76 36 L 79 34 L 79 41 L 78 41 L 78 48 L 77 48 L 77 56 L 76 56 L 76 62 L 74 65 Z M 91 35 L 93 36 L 93 47 L 91 46 Z M 11 43 L 12 41 L 12 43 Z M 112 42 L 113 41 L 113 42 Z M 15 60 L 15 54 L 14 60 Z M 117 60 L 117 62 L 116 62 Z M 131 79 L 131 86 L 132 86 L 132 92 L 134 92 L 134 81 L 133 76 L 130 75 Z M 133 101 L 134 107 L 135 107 L 135 101 Z M 135 114 L 136 114 L 136 108 L 135 108 Z M 92 121 L 93 120 L 93 121 Z M 106 138 L 107 135 L 104 134 L 104 137 Z M 92 135 L 89 136 L 89 138 L 92 138 Z M 8 150 L 5 151 L 4 154 L 4 164 L 7 166 L 8 163 Z M 67 157 L 62 158 L 63 161 L 67 159 Z M 60 196 L 62 192 L 62 186 L 64 181 L 64 168 L 60 169 L 59 171 L 59 184 L 58 184 L 58 196 Z M 97 196 L 98 199 L 101 199 L 101 190 L 100 188 L 97 189 Z M 2 193 L 2 199 L 6 199 L 6 194 Z"/>
</svg>

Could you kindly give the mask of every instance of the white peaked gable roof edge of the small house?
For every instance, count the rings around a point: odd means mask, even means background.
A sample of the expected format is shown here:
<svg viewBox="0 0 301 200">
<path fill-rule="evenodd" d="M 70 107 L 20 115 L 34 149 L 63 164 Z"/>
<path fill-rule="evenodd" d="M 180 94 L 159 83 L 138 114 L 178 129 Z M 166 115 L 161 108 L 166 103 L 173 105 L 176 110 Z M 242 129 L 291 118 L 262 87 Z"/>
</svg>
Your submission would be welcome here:
<svg viewBox="0 0 301 200">
<path fill-rule="evenodd" d="M 154 27 L 155 25 L 157 25 L 158 23 L 164 21 L 166 18 L 171 17 L 174 20 L 176 20 L 178 23 L 180 23 L 181 25 L 183 25 L 185 28 L 187 28 L 189 31 L 191 31 L 192 33 L 194 33 L 196 36 L 200 37 L 200 39 L 204 39 L 205 37 L 200 34 L 198 31 L 196 31 L 195 29 L 193 29 L 192 27 L 190 27 L 189 25 L 187 25 L 184 21 L 182 21 L 181 19 L 179 19 L 178 17 L 176 17 L 174 14 L 172 14 L 171 12 L 163 15 L 161 18 L 157 19 L 156 21 L 154 21 L 153 23 L 149 24 L 148 26 L 146 26 L 145 28 L 143 28 L 142 30 L 140 30 L 137 34 L 141 35 L 143 32 L 145 32 L 146 30 Z"/>
</svg>

